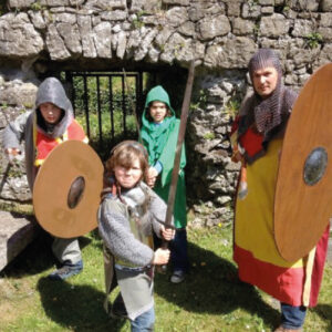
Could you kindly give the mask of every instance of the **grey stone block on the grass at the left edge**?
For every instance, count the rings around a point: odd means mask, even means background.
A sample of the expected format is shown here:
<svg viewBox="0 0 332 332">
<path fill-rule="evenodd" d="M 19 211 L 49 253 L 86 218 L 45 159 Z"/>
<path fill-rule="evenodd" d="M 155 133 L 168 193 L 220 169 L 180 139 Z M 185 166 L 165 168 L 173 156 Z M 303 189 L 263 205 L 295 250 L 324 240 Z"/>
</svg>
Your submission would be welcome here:
<svg viewBox="0 0 332 332">
<path fill-rule="evenodd" d="M 0 211 L 0 271 L 38 235 L 32 216 Z"/>
</svg>

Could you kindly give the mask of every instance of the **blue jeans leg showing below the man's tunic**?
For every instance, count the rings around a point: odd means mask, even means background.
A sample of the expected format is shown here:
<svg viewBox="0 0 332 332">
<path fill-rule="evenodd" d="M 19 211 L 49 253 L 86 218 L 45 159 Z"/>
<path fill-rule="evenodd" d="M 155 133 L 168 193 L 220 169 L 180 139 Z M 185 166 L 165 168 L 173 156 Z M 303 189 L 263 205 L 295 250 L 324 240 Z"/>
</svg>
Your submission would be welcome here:
<svg viewBox="0 0 332 332">
<path fill-rule="evenodd" d="M 281 325 L 284 329 L 295 330 L 302 328 L 307 308 L 293 307 L 281 302 Z"/>
</svg>

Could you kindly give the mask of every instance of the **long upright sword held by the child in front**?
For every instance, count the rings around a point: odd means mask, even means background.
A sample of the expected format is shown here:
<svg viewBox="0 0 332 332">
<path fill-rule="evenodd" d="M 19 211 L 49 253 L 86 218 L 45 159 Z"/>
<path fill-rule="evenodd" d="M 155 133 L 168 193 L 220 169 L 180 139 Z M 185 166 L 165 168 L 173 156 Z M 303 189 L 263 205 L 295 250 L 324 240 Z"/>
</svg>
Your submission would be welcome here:
<svg viewBox="0 0 332 332">
<path fill-rule="evenodd" d="M 193 92 L 193 85 L 194 85 L 194 74 L 195 74 L 195 60 L 193 60 L 190 63 L 188 79 L 187 79 L 187 85 L 186 85 L 186 91 L 185 91 L 185 97 L 183 101 L 180 126 L 179 126 L 178 136 L 177 136 L 174 167 L 173 167 L 173 172 L 172 172 L 172 181 L 170 181 L 170 187 L 169 187 L 169 193 L 168 193 L 167 211 L 166 211 L 166 218 L 165 218 L 166 228 L 172 228 L 170 221 L 172 221 L 172 216 L 173 216 L 173 211 L 174 211 L 174 201 L 175 201 L 176 187 L 177 187 L 177 180 L 178 180 L 178 172 L 179 172 L 179 165 L 180 165 L 183 143 L 185 139 L 187 118 L 188 118 L 190 98 L 191 98 L 191 92 Z M 163 240 L 162 248 L 167 249 L 167 247 L 168 247 L 168 241 Z"/>
</svg>

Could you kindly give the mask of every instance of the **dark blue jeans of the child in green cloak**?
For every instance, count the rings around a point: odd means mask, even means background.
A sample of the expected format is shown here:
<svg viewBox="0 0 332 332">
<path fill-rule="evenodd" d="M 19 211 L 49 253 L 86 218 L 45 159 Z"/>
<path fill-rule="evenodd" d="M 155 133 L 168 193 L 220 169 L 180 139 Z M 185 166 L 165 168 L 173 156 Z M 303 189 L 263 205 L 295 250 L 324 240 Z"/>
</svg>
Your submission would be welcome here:
<svg viewBox="0 0 332 332">
<path fill-rule="evenodd" d="M 188 272 L 188 242 L 186 228 L 176 229 L 175 237 L 170 241 L 170 261 L 174 271 Z"/>
</svg>

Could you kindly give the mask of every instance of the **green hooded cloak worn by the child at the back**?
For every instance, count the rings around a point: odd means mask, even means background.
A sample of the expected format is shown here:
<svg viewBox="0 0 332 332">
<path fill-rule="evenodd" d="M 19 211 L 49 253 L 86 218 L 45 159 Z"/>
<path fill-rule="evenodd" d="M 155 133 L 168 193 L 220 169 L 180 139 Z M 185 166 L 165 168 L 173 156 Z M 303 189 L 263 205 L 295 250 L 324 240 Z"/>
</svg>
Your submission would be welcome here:
<svg viewBox="0 0 332 332">
<path fill-rule="evenodd" d="M 148 105 L 154 101 L 165 103 L 172 112 L 172 116 L 165 117 L 160 125 L 155 125 L 146 117 L 146 114 L 148 114 Z M 166 201 L 166 204 L 168 201 L 179 123 L 179 120 L 175 117 L 175 112 L 170 106 L 167 92 L 160 85 L 152 89 L 147 94 L 144 106 L 141 136 L 143 145 L 148 152 L 149 165 L 154 166 L 157 162 L 163 165 L 162 174 L 159 174 L 156 180 L 154 190 Z M 186 152 L 185 145 L 183 145 L 174 205 L 174 225 L 176 228 L 183 228 L 187 225 L 185 166 Z"/>
</svg>

